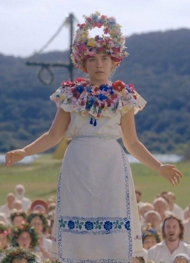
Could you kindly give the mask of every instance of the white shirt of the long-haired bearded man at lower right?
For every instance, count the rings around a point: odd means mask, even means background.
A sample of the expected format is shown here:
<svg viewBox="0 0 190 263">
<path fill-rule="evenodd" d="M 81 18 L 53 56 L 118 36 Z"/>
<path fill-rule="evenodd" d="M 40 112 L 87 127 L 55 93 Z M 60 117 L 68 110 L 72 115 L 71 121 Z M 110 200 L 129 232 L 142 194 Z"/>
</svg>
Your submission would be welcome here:
<svg viewBox="0 0 190 263">
<path fill-rule="evenodd" d="M 170 263 L 178 253 L 185 253 L 190 256 L 190 245 L 180 240 L 179 246 L 171 254 L 164 240 L 148 249 L 147 261 L 153 260 L 155 262 L 160 262 L 162 259 L 164 262 Z"/>
</svg>

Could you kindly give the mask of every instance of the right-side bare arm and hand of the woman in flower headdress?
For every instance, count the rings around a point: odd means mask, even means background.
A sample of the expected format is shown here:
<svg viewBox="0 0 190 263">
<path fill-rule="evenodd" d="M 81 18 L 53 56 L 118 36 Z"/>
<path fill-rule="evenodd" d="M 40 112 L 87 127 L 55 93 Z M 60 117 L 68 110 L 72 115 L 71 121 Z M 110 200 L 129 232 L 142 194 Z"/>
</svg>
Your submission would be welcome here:
<svg viewBox="0 0 190 263">
<path fill-rule="evenodd" d="M 146 149 L 139 141 L 135 129 L 134 108 L 132 107 L 121 117 L 122 140 L 127 151 L 146 166 L 160 172 L 160 175 L 168 179 L 173 185 L 179 183 L 182 173 L 175 169 L 175 165 L 163 165 Z M 171 171 L 170 171 L 171 170 Z M 169 176 L 170 175 L 170 176 Z"/>
</svg>

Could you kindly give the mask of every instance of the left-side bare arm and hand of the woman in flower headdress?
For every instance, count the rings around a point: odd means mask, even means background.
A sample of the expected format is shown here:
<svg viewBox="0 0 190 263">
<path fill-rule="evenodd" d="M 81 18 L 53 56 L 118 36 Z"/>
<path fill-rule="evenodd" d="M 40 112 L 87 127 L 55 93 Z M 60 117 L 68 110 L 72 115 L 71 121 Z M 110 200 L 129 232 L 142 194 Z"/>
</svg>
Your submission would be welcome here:
<svg viewBox="0 0 190 263">
<path fill-rule="evenodd" d="M 16 149 L 6 153 L 5 167 L 8 168 L 14 162 L 22 160 L 25 156 L 44 152 L 58 144 L 64 136 L 69 123 L 70 113 L 65 112 L 59 107 L 50 129 L 46 133 L 42 134 L 37 140 L 25 146 L 23 149 Z"/>
</svg>

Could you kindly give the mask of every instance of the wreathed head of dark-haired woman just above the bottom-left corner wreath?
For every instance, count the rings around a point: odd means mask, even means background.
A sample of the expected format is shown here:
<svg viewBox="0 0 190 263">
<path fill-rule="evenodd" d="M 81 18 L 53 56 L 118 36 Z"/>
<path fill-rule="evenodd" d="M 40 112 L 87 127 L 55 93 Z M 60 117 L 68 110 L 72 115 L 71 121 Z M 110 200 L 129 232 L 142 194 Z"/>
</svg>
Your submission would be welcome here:
<svg viewBox="0 0 190 263">
<path fill-rule="evenodd" d="M 22 223 L 21 226 L 12 227 L 11 236 L 12 247 L 23 248 L 28 252 L 35 252 L 35 248 L 39 244 L 39 235 L 29 223 Z M 41 262 L 39 256 L 37 256 L 37 259 Z"/>
</svg>

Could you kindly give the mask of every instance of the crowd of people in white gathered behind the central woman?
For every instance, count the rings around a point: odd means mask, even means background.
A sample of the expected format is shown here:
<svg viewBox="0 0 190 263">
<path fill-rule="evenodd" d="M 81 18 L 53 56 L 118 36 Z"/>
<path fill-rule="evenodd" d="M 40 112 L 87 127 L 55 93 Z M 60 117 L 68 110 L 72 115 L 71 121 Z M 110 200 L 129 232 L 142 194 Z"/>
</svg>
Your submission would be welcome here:
<svg viewBox="0 0 190 263">
<path fill-rule="evenodd" d="M 135 191 L 142 230 L 144 257 L 132 263 L 190 262 L 190 204 L 182 210 L 175 194 L 164 191 L 152 203 L 141 201 Z M 58 262 L 51 260 L 55 197 L 31 200 L 18 184 L 0 207 L 0 262 Z"/>
</svg>

